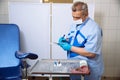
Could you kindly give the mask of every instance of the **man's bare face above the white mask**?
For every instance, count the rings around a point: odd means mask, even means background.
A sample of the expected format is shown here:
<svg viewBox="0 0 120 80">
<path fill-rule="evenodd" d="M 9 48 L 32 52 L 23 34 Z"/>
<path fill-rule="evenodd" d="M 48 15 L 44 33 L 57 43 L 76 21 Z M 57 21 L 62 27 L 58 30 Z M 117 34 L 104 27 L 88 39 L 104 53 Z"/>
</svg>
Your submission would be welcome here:
<svg viewBox="0 0 120 80">
<path fill-rule="evenodd" d="M 73 17 L 73 20 L 75 20 L 75 21 L 81 19 L 82 10 L 79 7 L 72 9 L 72 17 Z"/>
</svg>

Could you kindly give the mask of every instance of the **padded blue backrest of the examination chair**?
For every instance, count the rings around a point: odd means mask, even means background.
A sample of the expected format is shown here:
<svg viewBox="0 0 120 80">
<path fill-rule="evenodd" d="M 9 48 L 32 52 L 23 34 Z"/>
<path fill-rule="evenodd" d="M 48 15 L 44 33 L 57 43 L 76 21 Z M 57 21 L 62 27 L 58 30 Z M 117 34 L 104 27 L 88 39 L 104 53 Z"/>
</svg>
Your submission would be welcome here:
<svg viewBox="0 0 120 80">
<path fill-rule="evenodd" d="M 19 29 L 15 24 L 0 24 L 0 67 L 16 66 L 19 59 L 15 51 L 19 50 Z"/>
</svg>

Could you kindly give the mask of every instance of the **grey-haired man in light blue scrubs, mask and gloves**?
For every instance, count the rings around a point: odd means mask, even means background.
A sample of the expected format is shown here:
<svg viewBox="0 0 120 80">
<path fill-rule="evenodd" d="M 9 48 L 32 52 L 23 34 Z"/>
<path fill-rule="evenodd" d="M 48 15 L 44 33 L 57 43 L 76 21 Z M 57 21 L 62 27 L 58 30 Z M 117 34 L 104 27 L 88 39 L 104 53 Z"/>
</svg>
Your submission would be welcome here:
<svg viewBox="0 0 120 80">
<path fill-rule="evenodd" d="M 86 60 L 90 75 L 85 80 L 101 80 L 103 73 L 102 30 L 88 16 L 88 6 L 84 2 L 75 2 L 72 6 L 73 24 L 69 33 L 59 38 L 59 45 L 67 51 L 68 59 Z M 80 75 L 70 75 L 71 80 L 81 80 Z"/>
</svg>

